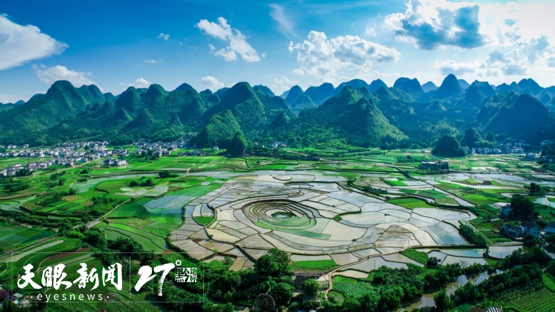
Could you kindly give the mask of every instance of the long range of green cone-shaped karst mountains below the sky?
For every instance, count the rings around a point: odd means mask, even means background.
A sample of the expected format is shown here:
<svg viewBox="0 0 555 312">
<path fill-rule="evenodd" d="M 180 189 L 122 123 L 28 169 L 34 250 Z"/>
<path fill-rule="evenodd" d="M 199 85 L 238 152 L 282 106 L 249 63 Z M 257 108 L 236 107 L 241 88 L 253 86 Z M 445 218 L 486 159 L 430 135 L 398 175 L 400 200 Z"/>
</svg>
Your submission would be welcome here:
<svg viewBox="0 0 555 312">
<path fill-rule="evenodd" d="M 370 85 L 350 80 L 306 92 L 294 86 L 287 95 L 275 96 L 268 87 L 244 82 L 215 93 L 183 84 L 171 92 L 160 85 L 129 87 L 114 96 L 94 85 L 57 81 L 27 103 L 0 105 L 0 144 L 83 139 L 124 144 L 196 132 L 198 147 L 226 148 L 239 131 L 248 141 L 279 140 L 289 146 L 422 148 L 445 135 L 463 139 L 463 146 L 487 146 L 495 139 L 555 139 L 553 87 L 529 79 L 497 87 L 475 81 L 464 89 L 453 75 L 432 87 L 410 78 L 398 79 L 393 87 L 382 80 Z M 508 91 L 498 94 L 503 89 Z M 486 135 L 490 139 L 481 139 Z"/>
</svg>

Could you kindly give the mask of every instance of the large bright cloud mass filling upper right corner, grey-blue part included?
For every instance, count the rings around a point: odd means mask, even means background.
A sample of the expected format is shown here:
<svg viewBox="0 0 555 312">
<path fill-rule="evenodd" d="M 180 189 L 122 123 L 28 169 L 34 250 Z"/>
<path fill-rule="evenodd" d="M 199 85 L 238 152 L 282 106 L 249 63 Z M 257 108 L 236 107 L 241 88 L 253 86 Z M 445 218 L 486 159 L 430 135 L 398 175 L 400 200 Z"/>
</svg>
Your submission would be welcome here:
<svg viewBox="0 0 555 312">
<path fill-rule="evenodd" d="M 442 75 L 455 73 L 496 84 L 532 76 L 538 83 L 551 85 L 554 1 L 478 2 L 408 0 L 404 12 L 384 19 L 385 28 L 420 49 L 452 46 L 453 56 L 436 62 Z M 461 48 L 478 49 L 461 53 Z"/>
</svg>

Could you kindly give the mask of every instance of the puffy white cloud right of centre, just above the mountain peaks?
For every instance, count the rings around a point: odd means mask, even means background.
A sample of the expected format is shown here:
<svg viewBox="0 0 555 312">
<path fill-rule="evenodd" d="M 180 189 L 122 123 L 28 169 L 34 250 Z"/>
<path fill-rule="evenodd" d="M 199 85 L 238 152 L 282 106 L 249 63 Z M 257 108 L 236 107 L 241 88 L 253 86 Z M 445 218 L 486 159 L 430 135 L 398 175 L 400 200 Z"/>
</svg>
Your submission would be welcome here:
<svg viewBox="0 0 555 312">
<path fill-rule="evenodd" d="M 297 51 L 300 71 L 320 80 L 334 81 L 337 71 L 351 69 L 368 71 L 374 62 L 396 62 L 401 53 L 357 36 L 339 36 L 327 39 L 325 33 L 311 31 L 300 44 L 289 42 L 289 52 Z"/>
</svg>

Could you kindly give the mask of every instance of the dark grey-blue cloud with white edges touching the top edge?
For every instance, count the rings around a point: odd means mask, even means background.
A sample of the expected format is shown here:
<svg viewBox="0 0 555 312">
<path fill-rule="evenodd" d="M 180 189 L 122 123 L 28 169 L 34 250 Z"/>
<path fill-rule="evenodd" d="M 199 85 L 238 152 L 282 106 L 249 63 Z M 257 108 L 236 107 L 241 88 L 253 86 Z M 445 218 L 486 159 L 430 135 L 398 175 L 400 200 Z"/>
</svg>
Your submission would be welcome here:
<svg viewBox="0 0 555 312">
<path fill-rule="evenodd" d="M 468 3 L 409 0 L 407 10 L 388 15 L 385 24 L 400 40 L 413 42 L 421 49 L 472 49 L 487 42 L 487 36 L 480 33 L 479 10 L 479 6 Z"/>
</svg>

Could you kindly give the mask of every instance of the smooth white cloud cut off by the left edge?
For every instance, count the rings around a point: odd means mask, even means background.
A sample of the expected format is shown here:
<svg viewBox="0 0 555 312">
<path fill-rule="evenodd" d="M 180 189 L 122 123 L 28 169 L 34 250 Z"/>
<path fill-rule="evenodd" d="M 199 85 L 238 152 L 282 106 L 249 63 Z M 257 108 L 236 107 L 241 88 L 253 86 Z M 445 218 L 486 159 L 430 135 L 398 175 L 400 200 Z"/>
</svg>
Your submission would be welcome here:
<svg viewBox="0 0 555 312">
<path fill-rule="evenodd" d="M 37 26 L 21 26 L 0 14 L 0 70 L 61 54 L 65 49 L 67 44 L 41 33 Z"/>
</svg>

